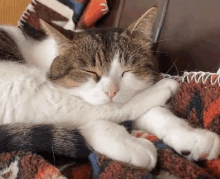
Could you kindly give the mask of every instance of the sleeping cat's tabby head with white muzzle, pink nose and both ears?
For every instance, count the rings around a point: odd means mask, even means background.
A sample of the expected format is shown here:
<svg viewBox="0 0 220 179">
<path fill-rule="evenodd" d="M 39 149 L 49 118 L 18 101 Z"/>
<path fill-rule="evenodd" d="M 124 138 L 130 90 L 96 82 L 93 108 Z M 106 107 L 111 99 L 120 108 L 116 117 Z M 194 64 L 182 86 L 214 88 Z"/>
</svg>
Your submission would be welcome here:
<svg viewBox="0 0 220 179">
<path fill-rule="evenodd" d="M 157 8 L 151 8 L 126 30 L 108 28 L 74 32 L 71 41 L 41 21 L 59 50 L 49 78 L 62 90 L 92 105 L 125 104 L 152 85 L 157 75 L 151 50 L 156 13 Z"/>
</svg>

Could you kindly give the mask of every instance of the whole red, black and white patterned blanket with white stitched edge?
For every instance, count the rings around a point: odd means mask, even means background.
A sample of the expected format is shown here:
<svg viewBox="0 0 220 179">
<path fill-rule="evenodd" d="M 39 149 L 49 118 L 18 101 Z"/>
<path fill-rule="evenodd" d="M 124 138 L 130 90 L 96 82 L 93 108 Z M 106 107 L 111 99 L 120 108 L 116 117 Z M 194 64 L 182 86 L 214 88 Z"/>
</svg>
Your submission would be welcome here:
<svg viewBox="0 0 220 179">
<path fill-rule="evenodd" d="M 32 0 L 18 21 L 18 27 L 37 40 L 44 36 L 39 24 L 41 18 L 71 38 L 68 30 L 92 28 L 108 10 L 106 0 Z M 180 88 L 171 101 L 176 115 L 187 119 L 193 127 L 206 128 L 220 135 L 220 75 L 190 72 L 181 77 L 163 77 L 175 78 L 179 82 Z M 62 163 L 58 166 L 40 155 L 18 151 L 0 154 L 0 178 L 153 179 L 161 169 L 180 178 L 220 178 L 220 158 L 191 162 L 156 136 L 144 131 L 133 131 L 133 135 L 149 139 L 157 147 L 158 163 L 152 173 L 113 161 L 96 152 L 91 152 L 87 161 Z"/>
</svg>

